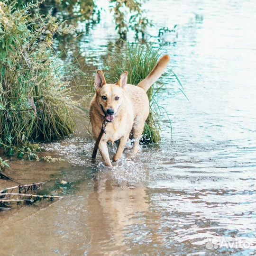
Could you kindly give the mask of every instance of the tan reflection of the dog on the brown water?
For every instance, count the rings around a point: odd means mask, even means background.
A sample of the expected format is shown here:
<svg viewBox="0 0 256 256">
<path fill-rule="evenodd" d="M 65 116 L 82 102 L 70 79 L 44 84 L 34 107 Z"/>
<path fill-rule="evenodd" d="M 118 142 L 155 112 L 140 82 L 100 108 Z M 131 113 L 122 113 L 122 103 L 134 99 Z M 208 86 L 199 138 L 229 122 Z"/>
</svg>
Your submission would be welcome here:
<svg viewBox="0 0 256 256">
<path fill-rule="evenodd" d="M 111 173 L 95 177 L 94 191 L 89 195 L 91 243 L 88 255 L 117 255 L 128 250 L 125 228 L 141 225 L 145 219 L 132 218 L 135 213 L 143 216 L 148 212 L 146 189 L 131 186 L 127 182 L 116 183 Z"/>
</svg>

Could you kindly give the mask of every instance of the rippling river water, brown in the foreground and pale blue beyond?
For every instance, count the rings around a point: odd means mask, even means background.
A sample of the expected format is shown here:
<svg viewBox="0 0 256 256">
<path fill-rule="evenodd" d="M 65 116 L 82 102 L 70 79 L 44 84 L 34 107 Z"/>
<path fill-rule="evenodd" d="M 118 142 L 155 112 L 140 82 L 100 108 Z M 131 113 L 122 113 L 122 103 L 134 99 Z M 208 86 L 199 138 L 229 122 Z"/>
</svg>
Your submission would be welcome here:
<svg viewBox="0 0 256 256">
<path fill-rule="evenodd" d="M 107 168 L 99 156 L 91 162 L 94 141 L 78 125 L 74 137 L 44 145 L 63 162 L 11 161 L 6 172 L 18 182 L 46 181 L 43 191 L 65 197 L 0 212 L 1 256 L 255 255 L 256 2 L 150 0 L 145 8 L 149 34 L 177 25 L 161 37 L 173 90 L 160 102 L 173 139 L 164 122 L 159 144 L 135 159 L 128 145 Z M 103 14 L 79 51 L 100 55 L 117 38 Z"/>
</svg>

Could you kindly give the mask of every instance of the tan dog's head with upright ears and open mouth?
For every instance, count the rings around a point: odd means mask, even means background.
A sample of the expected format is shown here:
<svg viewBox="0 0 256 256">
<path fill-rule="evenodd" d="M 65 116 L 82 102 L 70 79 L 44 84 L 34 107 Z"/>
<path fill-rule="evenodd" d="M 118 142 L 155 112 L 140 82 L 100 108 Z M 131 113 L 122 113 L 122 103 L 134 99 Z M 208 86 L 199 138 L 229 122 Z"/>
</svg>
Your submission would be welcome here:
<svg viewBox="0 0 256 256">
<path fill-rule="evenodd" d="M 94 87 L 96 89 L 96 100 L 100 107 L 100 112 L 105 115 L 106 120 L 113 122 L 118 110 L 124 100 L 124 88 L 127 83 L 128 72 L 121 74 L 117 83 L 106 83 L 104 73 L 97 71 Z"/>
</svg>

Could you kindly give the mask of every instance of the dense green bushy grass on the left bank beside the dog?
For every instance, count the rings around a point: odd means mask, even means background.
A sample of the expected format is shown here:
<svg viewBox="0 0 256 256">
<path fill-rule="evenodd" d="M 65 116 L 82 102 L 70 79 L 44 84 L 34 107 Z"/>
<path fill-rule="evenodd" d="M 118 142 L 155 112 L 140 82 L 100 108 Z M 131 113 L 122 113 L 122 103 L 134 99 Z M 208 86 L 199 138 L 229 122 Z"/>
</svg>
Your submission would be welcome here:
<svg viewBox="0 0 256 256">
<path fill-rule="evenodd" d="M 32 15 L 37 7 L 0 1 L 0 147 L 18 157 L 35 158 L 32 142 L 69 136 L 75 125 L 77 102 L 52 48 L 54 35 L 69 28 L 50 15 Z"/>
</svg>

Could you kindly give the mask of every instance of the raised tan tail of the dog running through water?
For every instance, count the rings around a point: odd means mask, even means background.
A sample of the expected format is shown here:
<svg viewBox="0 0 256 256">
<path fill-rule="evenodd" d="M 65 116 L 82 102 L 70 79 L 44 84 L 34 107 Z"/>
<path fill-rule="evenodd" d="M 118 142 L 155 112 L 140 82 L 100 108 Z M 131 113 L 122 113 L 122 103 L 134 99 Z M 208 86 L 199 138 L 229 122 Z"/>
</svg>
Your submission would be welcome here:
<svg viewBox="0 0 256 256">
<path fill-rule="evenodd" d="M 161 76 L 162 73 L 164 73 L 165 68 L 170 61 L 169 55 L 164 55 L 160 58 L 158 63 L 155 65 L 154 69 L 150 72 L 150 74 L 143 79 L 137 86 L 141 87 L 145 91 L 147 91 L 150 86 L 156 82 L 156 80 Z"/>
</svg>

